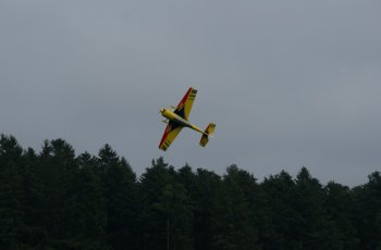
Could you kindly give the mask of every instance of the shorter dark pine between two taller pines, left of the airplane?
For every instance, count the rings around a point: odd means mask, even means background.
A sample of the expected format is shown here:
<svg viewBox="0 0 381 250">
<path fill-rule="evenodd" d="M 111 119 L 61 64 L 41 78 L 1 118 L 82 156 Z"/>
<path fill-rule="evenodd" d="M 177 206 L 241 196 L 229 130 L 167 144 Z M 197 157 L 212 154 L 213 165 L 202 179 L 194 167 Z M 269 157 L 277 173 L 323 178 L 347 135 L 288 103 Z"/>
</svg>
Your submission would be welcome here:
<svg viewBox="0 0 381 250">
<path fill-rule="evenodd" d="M 107 211 L 101 180 L 95 174 L 96 165 L 88 153 L 77 158 L 77 165 L 71 178 L 67 201 L 72 246 L 76 249 L 107 249 Z"/>
</svg>

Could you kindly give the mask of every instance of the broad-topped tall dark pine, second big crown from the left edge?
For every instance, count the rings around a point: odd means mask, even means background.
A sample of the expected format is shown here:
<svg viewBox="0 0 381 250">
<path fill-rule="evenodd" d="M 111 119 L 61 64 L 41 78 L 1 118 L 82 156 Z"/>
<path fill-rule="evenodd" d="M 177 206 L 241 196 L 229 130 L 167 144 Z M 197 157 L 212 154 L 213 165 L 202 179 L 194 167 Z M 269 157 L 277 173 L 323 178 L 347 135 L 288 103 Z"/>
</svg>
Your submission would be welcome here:
<svg viewBox="0 0 381 250">
<path fill-rule="evenodd" d="M 62 139 L 45 141 L 29 168 L 29 220 L 36 247 L 73 248 L 69 208 L 71 178 L 77 168 L 72 146 Z M 36 238 L 37 237 L 37 238 Z"/>
</svg>

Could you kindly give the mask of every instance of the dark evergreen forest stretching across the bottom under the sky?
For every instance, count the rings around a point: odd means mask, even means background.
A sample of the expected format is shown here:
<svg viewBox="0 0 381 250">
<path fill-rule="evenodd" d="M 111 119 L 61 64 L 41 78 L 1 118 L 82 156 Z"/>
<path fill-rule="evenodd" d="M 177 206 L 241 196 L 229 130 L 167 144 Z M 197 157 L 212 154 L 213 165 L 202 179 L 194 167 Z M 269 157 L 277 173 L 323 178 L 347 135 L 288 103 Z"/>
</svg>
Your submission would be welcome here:
<svg viewBox="0 0 381 250">
<path fill-rule="evenodd" d="M 349 188 L 302 167 L 258 182 L 159 158 L 136 176 L 109 145 L 36 152 L 1 135 L 0 249 L 381 249 L 381 175 Z"/>
</svg>

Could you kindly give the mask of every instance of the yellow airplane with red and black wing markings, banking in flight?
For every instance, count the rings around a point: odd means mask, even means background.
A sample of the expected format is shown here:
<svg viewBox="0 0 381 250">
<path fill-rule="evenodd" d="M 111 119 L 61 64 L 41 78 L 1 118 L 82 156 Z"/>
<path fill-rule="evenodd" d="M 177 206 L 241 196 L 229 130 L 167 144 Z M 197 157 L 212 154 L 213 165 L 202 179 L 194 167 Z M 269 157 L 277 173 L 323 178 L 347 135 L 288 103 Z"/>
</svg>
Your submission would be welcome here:
<svg viewBox="0 0 381 250">
<path fill-rule="evenodd" d="M 161 115 L 167 118 L 163 122 L 168 125 L 165 127 L 164 135 L 161 138 L 159 149 L 165 151 L 184 127 L 189 127 L 202 134 L 201 140 L 199 142 L 200 146 L 205 147 L 208 143 L 209 136 L 211 136 L 211 134 L 214 132 L 216 124 L 210 123 L 208 127 L 202 130 L 201 128 L 188 122 L 188 116 L 193 102 L 196 98 L 196 89 L 189 88 L 177 107 L 160 110 Z"/>
</svg>

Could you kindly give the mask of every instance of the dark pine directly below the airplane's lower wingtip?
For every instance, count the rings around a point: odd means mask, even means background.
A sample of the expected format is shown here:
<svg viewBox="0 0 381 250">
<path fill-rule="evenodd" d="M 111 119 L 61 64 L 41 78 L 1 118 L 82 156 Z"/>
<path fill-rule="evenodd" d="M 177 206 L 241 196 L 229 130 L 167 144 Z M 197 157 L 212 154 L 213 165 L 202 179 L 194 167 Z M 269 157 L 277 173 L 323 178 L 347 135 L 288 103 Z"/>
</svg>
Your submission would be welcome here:
<svg viewBox="0 0 381 250">
<path fill-rule="evenodd" d="M 140 178 L 143 249 L 193 249 L 193 207 L 172 166 L 159 158 Z"/>
</svg>

